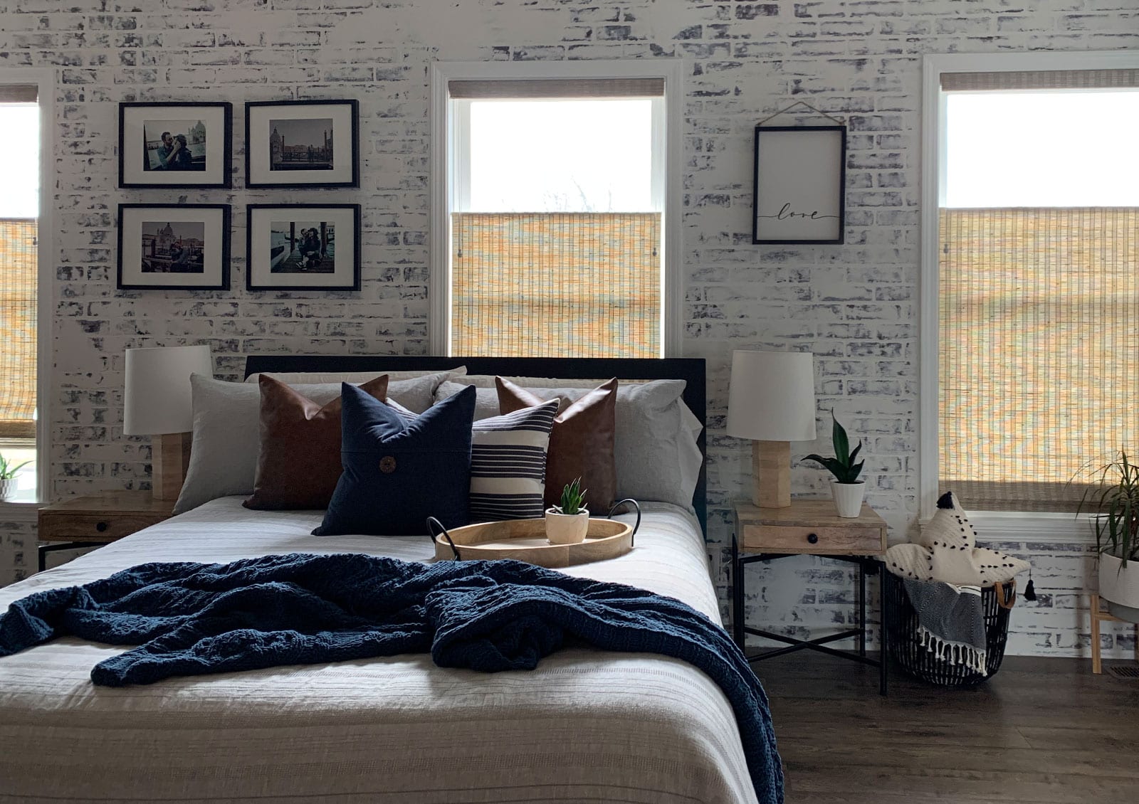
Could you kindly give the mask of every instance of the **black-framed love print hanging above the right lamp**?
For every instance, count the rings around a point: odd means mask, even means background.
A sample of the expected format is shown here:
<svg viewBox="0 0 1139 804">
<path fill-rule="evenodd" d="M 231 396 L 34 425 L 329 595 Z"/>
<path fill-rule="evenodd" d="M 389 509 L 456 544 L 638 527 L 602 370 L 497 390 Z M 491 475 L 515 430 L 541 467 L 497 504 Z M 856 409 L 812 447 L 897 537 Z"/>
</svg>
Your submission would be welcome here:
<svg viewBox="0 0 1139 804">
<path fill-rule="evenodd" d="M 846 126 L 756 126 L 752 243 L 839 244 Z"/>
</svg>

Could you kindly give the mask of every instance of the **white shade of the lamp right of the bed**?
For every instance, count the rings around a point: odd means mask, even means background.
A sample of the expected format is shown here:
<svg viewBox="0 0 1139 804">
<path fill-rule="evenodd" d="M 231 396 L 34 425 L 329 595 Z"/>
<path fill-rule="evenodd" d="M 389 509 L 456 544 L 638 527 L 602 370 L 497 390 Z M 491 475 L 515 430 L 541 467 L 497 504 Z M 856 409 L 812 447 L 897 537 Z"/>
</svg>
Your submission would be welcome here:
<svg viewBox="0 0 1139 804">
<path fill-rule="evenodd" d="M 752 441 L 814 441 L 814 355 L 732 352 L 728 435 Z"/>
</svg>

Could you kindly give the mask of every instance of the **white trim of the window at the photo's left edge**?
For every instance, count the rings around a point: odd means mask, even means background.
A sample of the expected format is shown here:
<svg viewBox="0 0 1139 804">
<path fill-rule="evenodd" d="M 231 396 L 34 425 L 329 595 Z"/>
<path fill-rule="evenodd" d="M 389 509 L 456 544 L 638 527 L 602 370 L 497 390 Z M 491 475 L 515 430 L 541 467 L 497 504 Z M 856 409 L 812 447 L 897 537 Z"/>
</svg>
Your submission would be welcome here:
<svg viewBox="0 0 1139 804">
<path fill-rule="evenodd" d="M 36 367 L 34 501 L 0 502 L 0 515 L 35 522 L 36 509 L 50 497 L 51 477 L 51 343 L 55 312 L 55 130 L 56 77 L 49 67 L 0 68 L 0 84 L 36 84 L 40 107 L 40 213 L 36 231 Z"/>
</svg>

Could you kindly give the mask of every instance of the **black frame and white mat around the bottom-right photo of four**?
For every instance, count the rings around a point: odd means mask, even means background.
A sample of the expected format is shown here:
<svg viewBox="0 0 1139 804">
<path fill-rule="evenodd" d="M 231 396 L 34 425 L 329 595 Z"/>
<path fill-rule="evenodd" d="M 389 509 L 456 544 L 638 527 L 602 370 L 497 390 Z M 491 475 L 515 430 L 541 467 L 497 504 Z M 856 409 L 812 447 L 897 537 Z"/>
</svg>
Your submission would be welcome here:
<svg viewBox="0 0 1139 804">
<path fill-rule="evenodd" d="M 251 205 L 247 214 L 248 241 L 246 246 L 246 287 L 251 290 L 353 290 L 359 287 L 357 251 L 360 232 L 357 223 L 360 207 L 321 205 Z M 320 222 L 335 227 L 335 272 L 333 273 L 273 273 L 272 236 L 274 223 L 296 222 L 313 225 Z"/>
</svg>

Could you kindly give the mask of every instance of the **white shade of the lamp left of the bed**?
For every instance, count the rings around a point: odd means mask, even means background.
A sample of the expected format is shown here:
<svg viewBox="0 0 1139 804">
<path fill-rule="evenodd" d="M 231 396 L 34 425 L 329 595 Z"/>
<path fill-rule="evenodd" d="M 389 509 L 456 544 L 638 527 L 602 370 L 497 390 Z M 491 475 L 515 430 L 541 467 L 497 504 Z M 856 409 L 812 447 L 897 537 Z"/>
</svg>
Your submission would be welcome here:
<svg viewBox="0 0 1139 804">
<path fill-rule="evenodd" d="M 123 433 L 189 433 L 194 427 L 191 374 L 213 377 L 208 346 L 126 350 Z"/>
</svg>

